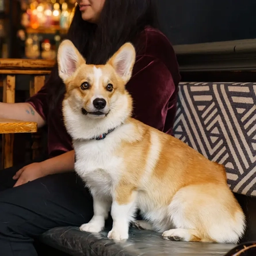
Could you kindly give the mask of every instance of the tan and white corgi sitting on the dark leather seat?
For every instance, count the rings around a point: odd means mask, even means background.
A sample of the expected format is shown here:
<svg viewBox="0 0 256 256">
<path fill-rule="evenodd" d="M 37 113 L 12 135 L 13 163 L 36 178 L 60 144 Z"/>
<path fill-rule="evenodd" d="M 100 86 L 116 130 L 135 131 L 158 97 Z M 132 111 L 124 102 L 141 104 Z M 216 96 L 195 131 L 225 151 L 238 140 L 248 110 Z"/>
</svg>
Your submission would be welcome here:
<svg viewBox="0 0 256 256">
<path fill-rule="evenodd" d="M 69 40 L 58 50 L 75 171 L 93 197 L 94 216 L 80 230 L 102 231 L 110 212 L 108 238 L 114 240 L 128 239 L 132 224 L 161 232 L 166 240 L 237 243 L 246 222 L 224 167 L 132 119 L 125 85 L 135 57 L 131 43 L 99 66 L 86 64 Z M 144 220 L 134 219 L 136 209 Z"/>
</svg>

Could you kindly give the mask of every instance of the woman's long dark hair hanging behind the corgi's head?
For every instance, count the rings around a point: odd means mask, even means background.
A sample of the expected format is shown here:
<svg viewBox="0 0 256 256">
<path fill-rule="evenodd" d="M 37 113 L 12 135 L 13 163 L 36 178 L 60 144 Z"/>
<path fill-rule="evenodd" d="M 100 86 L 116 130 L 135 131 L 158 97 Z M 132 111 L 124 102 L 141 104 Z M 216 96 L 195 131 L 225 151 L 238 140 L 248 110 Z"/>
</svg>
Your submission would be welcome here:
<svg viewBox="0 0 256 256">
<path fill-rule="evenodd" d="M 127 41 L 137 44 L 137 36 L 146 26 L 158 28 L 155 0 L 105 0 L 97 25 L 82 19 L 79 6 L 66 38 L 74 43 L 88 64 L 105 64 Z M 139 50 L 139 49 L 137 49 Z M 65 87 L 56 65 L 48 79 L 49 107 L 54 109 Z"/>
</svg>

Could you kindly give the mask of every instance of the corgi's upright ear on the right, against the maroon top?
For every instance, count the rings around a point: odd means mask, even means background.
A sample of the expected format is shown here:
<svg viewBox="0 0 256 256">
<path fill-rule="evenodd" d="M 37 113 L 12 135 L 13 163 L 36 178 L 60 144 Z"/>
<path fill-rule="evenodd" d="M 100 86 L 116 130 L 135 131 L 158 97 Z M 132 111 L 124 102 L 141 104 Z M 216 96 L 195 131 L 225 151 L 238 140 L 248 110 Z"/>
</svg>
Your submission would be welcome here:
<svg viewBox="0 0 256 256">
<path fill-rule="evenodd" d="M 125 43 L 109 59 L 108 64 L 110 64 L 123 81 L 127 83 L 132 76 L 132 68 L 135 63 L 135 58 L 135 48 L 131 43 Z"/>
</svg>

